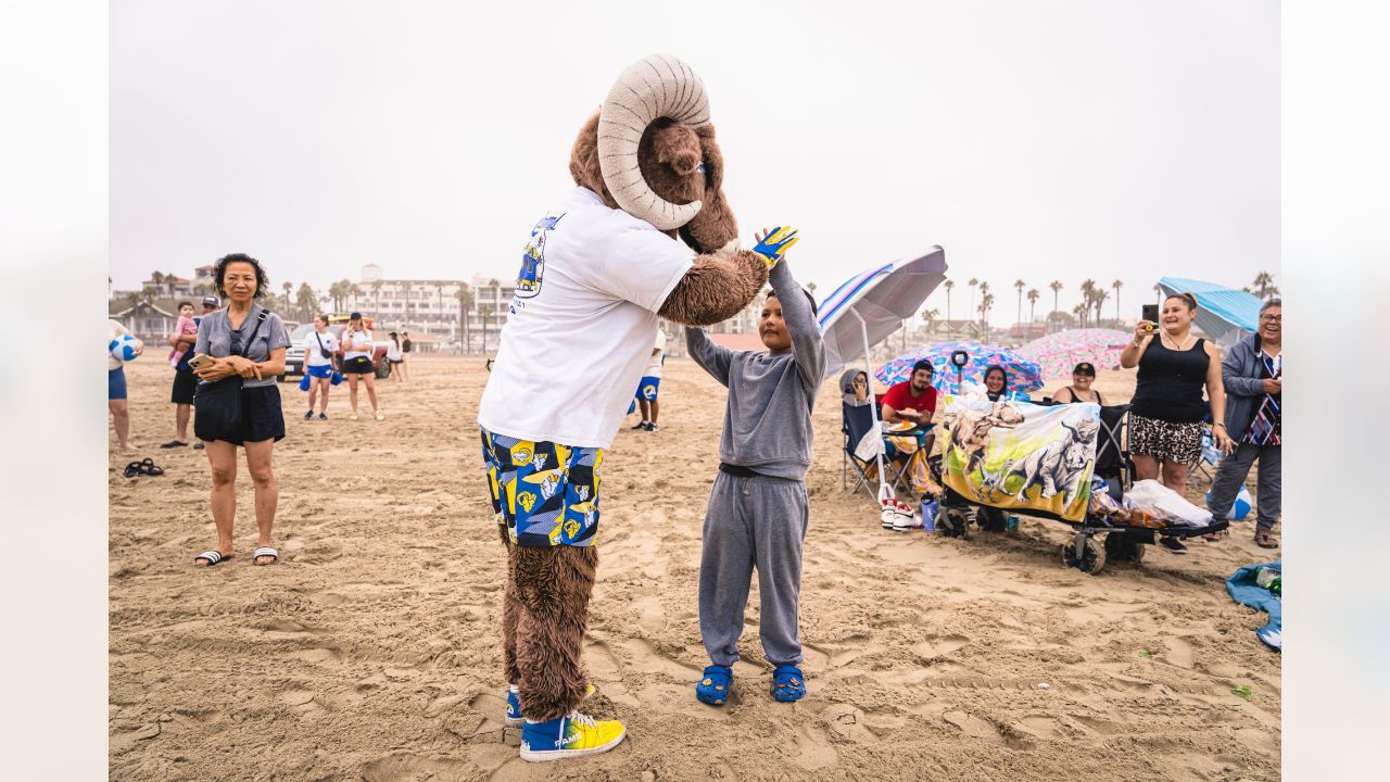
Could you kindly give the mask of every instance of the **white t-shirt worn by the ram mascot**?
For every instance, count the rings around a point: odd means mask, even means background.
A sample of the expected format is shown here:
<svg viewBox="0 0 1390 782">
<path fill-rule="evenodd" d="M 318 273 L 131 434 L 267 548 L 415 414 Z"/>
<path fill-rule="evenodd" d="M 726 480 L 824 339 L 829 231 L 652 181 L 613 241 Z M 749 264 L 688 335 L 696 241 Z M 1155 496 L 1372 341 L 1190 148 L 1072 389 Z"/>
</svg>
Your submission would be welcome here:
<svg viewBox="0 0 1390 782">
<path fill-rule="evenodd" d="M 684 242 L 575 188 L 521 253 L 478 423 L 493 434 L 607 448 L 695 262 Z"/>
</svg>

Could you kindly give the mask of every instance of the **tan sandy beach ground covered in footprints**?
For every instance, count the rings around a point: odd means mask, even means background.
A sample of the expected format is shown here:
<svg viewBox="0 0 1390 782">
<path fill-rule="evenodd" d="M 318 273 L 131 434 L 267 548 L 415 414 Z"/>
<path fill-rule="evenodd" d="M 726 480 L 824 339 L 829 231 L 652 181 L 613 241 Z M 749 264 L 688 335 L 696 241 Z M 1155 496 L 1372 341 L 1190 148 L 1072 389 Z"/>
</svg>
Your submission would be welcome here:
<svg viewBox="0 0 1390 782">
<path fill-rule="evenodd" d="M 1280 778 L 1280 658 L 1252 633 L 1265 616 L 1223 589 L 1277 557 L 1251 541 L 1252 519 L 1187 557 L 1151 548 L 1097 576 L 1062 568 L 1059 522 L 969 540 L 887 532 L 841 488 L 833 384 L 806 477 L 809 696 L 767 694 L 755 582 L 731 701 L 698 703 L 701 522 L 724 394 L 676 359 L 662 431 L 628 419 L 605 462 L 585 710 L 621 718 L 628 737 L 523 763 L 520 731 L 502 725 L 505 552 L 474 423 L 484 360 L 413 358 L 411 383 L 378 384 L 385 422 L 349 422 L 346 384 L 332 420 L 306 422 L 306 395 L 281 384 L 282 561 L 250 564 L 242 462 L 236 558 L 200 570 L 192 557 L 215 541 L 207 462 L 158 448 L 174 409 L 156 353 L 126 365 L 132 438 L 167 473 L 121 477 L 131 458 L 114 445 L 110 465 L 114 781 Z M 1133 373 L 1101 376 L 1106 401 L 1127 399 Z"/>
</svg>

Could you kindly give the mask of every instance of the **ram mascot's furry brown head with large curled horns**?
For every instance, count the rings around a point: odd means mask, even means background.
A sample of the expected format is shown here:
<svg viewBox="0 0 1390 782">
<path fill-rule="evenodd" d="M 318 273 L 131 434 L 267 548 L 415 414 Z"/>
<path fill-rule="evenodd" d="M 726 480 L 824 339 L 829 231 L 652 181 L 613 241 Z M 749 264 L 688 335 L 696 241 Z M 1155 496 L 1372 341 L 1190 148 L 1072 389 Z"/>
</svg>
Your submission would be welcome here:
<svg viewBox="0 0 1390 782">
<path fill-rule="evenodd" d="M 677 231 L 696 253 L 737 246 L 705 83 L 674 56 L 653 54 L 623 71 L 580 129 L 570 174 L 610 207 Z"/>
</svg>

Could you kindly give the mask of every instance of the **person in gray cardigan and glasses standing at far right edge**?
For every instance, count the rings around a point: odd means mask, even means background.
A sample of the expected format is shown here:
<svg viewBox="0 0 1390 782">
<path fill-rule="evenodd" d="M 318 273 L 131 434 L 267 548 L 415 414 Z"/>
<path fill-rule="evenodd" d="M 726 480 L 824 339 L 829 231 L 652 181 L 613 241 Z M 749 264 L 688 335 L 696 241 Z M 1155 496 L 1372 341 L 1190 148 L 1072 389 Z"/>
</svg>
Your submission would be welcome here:
<svg viewBox="0 0 1390 782">
<path fill-rule="evenodd" d="M 1258 513 L 1255 544 L 1279 548 L 1275 522 L 1279 520 L 1282 470 L 1279 463 L 1283 402 L 1283 309 L 1279 299 L 1259 309 L 1259 328 L 1241 340 L 1222 362 L 1226 387 L 1226 431 L 1236 451 L 1220 461 L 1207 508 L 1218 519 L 1230 513 L 1236 494 L 1250 468 L 1259 462 L 1255 483 Z"/>
</svg>

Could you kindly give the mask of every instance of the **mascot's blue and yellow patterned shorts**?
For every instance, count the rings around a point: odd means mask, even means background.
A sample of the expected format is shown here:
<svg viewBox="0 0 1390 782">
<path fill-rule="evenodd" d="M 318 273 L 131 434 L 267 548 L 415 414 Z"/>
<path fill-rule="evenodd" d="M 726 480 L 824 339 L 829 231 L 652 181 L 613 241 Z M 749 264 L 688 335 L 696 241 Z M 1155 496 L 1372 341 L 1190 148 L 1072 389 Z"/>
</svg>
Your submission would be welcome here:
<svg viewBox="0 0 1390 782">
<path fill-rule="evenodd" d="M 520 545 L 594 545 L 602 448 L 571 448 L 482 430 L 498 525 Z"/>
</svg>

